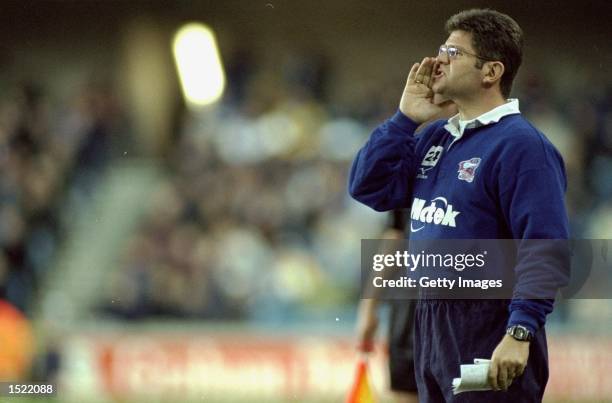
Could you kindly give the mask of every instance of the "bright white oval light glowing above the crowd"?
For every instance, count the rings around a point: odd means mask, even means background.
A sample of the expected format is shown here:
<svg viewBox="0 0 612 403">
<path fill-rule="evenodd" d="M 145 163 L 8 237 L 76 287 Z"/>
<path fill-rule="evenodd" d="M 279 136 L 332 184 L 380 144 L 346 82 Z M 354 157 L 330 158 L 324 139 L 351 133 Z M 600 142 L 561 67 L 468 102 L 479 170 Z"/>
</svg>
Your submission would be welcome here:
<svg viewBox="0 0 612 403">
<path fill-rule="evenodd" d="M 174 36 L 172 47 L 187 103 L 201 107 L 218 101 L 225 74 L 212 30 L 203 24 L 187 24 Z"/>
</svg>

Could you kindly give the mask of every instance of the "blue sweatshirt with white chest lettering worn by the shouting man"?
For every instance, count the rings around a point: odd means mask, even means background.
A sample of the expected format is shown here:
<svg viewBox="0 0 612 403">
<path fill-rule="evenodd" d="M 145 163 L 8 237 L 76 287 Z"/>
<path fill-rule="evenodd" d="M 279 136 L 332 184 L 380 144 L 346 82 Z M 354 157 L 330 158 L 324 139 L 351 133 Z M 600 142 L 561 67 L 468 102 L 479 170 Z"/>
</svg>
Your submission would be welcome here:
<svg viewBox="0 0 612 403">
<path fill-rule="evenodd" d="M 419 124 L 398 111 L 359 150 L 351 196 L 377 211 L 411 208 L 410 239 L 568 239 L 563 160 L 539 130 L 518 111 L 460 136 L 445 124 L 415 135 Z M 569 254 L 533 249 L 517 250 L 508 326 L 535 333 L 554 300 L 526 290 L 567 285 Z"/>
</svg>

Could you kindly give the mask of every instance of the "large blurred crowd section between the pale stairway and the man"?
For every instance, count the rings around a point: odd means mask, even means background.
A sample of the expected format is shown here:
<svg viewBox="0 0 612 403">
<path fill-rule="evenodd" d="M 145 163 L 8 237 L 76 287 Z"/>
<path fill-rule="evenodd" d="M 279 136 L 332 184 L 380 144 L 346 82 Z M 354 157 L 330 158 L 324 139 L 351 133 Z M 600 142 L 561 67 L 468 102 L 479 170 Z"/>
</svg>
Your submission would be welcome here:
<svg viewBox="0 0 612 403">
<path fill-rule="evenodd" d="M 353 304 L 360 239 L 384 222 L 346 192 L 368 128 L 322 101 L 323 66 L 289 63 L 279 81 L 243 63 L 221 105 L 185 115 L 108 310 L 286 321 Z"/>
</svg>

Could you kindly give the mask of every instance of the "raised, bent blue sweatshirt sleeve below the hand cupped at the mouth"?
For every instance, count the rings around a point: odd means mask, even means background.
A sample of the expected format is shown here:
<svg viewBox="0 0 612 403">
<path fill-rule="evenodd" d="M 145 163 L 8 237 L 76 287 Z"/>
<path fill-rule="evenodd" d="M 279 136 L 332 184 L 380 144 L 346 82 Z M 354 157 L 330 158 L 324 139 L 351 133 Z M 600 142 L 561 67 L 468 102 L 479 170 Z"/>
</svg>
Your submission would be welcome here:
<svg viewBox="0 0 612 403">
<path fill-rule="evenodd" d="M 418 126 L 398 110 L 374 130 L 351 167 L 349 193 L 355 200 L 376 211 L 408 207 Z"/>
</svg>

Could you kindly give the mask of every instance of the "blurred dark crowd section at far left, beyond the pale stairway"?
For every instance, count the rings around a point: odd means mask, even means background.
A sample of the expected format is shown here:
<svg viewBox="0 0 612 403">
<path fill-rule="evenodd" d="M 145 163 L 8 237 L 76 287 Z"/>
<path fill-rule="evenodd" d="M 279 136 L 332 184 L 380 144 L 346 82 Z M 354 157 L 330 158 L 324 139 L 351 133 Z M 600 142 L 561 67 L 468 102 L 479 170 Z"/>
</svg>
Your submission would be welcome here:
<svg viewBox="0 0 612 403">
<path fill-rule="evenodd" d="M 35 82 L 0 99 L 0 299 L 29 312 L 63 234 L 112 155 L 119 108 L 107 85 L 67 102 Z"/>
</svg>

